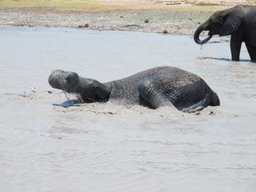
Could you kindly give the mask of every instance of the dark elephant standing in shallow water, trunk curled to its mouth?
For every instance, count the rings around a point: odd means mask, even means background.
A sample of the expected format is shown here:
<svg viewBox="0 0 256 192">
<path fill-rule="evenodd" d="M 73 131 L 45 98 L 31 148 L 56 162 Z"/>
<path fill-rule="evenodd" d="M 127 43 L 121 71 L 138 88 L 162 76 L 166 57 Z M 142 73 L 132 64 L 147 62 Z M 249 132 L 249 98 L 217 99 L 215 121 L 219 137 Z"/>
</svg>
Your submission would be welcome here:
<svg viewBox="0 0 256 192">
<path fill-rule="evenodd" d="M 202 31 L 209 31 L 208 37 L 200 40 Z M 245 42 L 252 61 L 256 60 L 256 6 L 237 5 L 215 12 L 200 25 L 194 35 L 196 44 L 205 44 L 212 35 L 231 35 L 232 61 L 240 60 L 241 44 Z"/>
</svg>

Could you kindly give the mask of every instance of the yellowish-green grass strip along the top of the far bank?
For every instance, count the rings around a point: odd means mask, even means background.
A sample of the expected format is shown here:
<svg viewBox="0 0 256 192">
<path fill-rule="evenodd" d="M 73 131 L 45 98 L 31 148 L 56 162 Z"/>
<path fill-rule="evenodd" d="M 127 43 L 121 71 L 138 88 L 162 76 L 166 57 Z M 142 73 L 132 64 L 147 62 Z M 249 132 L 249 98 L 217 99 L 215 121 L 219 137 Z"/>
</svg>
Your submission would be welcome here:
<svg viewBox="0 0 256 192">
<path fill-rule="evenodd" d="M 164 4 L 140 4 L 118 1 L 88 0 L 0 0 L 0 8 L 41 8 L 67 11 L 111 11 L 111 10 L 173 10 L 184 12 L 215 12 L 220 6 L 166 6 Z"/>
</svg>

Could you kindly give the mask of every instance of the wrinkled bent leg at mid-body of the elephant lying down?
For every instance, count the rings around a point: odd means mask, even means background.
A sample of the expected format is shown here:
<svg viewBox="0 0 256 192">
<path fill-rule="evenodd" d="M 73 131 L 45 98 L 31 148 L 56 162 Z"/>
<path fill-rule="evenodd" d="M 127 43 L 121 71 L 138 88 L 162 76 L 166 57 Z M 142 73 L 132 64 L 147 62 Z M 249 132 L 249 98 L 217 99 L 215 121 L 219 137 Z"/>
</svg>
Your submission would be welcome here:
<svg viewBox="0 0 256 192">
<path fill-rule="evenodd" d="M 148 102 L 152 108 L 157 109 L 173 104 L 150 79 L 143 80 L 139 84 L 140 97 Z"/>
</svg>

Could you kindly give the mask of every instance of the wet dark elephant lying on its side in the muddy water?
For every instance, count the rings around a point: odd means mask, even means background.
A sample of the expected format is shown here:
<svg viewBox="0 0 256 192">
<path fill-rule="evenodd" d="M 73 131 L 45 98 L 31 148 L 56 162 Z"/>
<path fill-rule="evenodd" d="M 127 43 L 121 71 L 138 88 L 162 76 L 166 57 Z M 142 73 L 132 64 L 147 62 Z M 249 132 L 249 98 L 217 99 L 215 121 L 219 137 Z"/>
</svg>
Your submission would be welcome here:
<svg viewBox="0 0 256 192">
<path fill-rule="evenodd" d="M 152 109 L 175 106 L 182 111 L 220 105 L 218 95 L 203 79 L 175 67 L 150 68 L 108 83 L 79 77 L 75 72 L 53 70 L 49 84 L 81 95 L 83 102 L 116 101 Z"/>
</svg>

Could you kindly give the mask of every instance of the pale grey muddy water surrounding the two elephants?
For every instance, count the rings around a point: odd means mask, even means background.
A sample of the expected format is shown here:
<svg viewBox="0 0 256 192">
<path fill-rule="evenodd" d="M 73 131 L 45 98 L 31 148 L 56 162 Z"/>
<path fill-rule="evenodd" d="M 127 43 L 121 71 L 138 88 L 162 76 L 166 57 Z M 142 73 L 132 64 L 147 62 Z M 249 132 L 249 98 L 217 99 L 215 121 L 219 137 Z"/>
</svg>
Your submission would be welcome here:
<svg viewBox="0 0 256 192">
<path fill-rule="evenodd" d="M 244 46 L 230 61 L 227 40 L 200 50 L 192 36 L 1 26 L 1 191 L 255 191 L 256 64 Z M 159 65 L 198 74 L 221 106 L 65 109 L 47 93 L 56 68 L 106 82 Z"/>
</svg>

